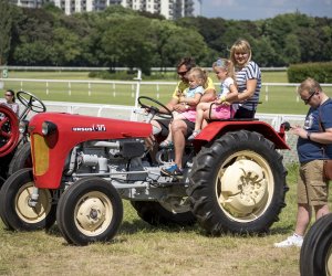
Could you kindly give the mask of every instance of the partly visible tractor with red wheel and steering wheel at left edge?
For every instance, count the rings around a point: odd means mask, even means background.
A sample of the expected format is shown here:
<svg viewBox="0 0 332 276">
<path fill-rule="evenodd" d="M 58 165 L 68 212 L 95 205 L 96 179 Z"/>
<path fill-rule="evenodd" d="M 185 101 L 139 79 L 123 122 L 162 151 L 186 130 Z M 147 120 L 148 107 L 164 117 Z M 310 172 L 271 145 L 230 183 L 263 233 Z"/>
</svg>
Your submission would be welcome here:
<svg viewBox="0 0 332 276">
<path fill-rule="evenodd" d="M 24 106 L 20 117 L 0 104 L 0 188 L 7 177 L 14 171 L 32 167 L 27 116 L 31 110 L 35 113 L 46 110 L 44 104 L 29 92 L 20 91 L 17 97 Z"/>
</svg>

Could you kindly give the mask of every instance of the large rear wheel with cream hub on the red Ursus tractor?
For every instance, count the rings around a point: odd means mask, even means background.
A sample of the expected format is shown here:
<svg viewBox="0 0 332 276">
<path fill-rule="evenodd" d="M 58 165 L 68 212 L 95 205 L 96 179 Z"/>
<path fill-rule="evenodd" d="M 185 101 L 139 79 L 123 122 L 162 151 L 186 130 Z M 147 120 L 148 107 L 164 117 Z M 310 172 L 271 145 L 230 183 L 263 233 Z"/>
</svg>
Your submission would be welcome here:
<svg viewBox="0 0 332 276">
<path fill-rule="evenodd" d="M 287 171 L 274 145 L 258 132 L 228 132 L 200 150 L 188 195 L 210 234 L 267 232 L 284 204 Z"/>
</svg>

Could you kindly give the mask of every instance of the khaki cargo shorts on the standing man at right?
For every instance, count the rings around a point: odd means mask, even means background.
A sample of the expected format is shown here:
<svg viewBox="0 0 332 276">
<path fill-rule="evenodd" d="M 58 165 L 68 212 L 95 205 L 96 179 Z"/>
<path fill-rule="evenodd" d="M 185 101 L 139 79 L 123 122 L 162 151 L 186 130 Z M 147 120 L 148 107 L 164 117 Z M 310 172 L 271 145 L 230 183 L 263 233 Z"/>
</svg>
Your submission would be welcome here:
<svg viewBox="0 0 332 276">
<path fill-rule="evenodd" d="M 328 183 L 323 180 L 323 160 L 302 163 L 298 182 L 298 203 L 312 206 L 326 204 Z"/>
</svg>

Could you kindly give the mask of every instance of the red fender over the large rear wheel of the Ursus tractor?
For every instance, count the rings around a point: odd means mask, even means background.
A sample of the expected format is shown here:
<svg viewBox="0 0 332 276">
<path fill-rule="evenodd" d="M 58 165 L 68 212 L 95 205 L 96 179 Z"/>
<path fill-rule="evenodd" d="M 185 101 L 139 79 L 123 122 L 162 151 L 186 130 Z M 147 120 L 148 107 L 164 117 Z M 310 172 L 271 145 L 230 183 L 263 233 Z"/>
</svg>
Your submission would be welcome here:
<svg viewBox="0 0 332 276">
<path fill-rule="evenodd" d="M 276 149 L 290 149 L 284 140 L 284 129 L 277 132 L 269 124 L 260 120 L 224 120 L 209 123 L 198 136 L 194 145 L 199 147 L 222 136 L 225 132 L 246 129 L 259 132 L 274 144 Z"/>
</svg>

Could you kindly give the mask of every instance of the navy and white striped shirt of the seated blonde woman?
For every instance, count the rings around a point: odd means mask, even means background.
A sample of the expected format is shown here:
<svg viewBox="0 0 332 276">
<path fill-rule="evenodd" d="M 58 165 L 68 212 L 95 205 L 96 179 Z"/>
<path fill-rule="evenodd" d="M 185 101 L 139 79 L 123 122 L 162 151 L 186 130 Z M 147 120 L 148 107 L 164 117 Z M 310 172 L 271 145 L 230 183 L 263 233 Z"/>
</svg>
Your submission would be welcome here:
<svg viewBox="0 0 332 276">
<path fill-rule="evenodd" d="M 259 92 L 261 88 L 261 72 L 260 72 L 259 66 L 252 61 L 249 62 L 243 68 L 236 72 L 236 78 L 237 78 L 237 85 L 238 85 L 239 93 L 242 93 L 243 91 L 247 89 L 247 81 L 248 79 L 253 79 L 253 78 L 257 79 L 255 94 L 252 95 L 251 98 L 248 99 L 250 102 L 253 102 L 255 104 L 246 103 L 246 102 L 240 104 L 240 106 L 242 106 L 246 109 L 256 110 L 257 103 L 259 100 Z"/>
</svg>

